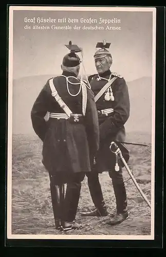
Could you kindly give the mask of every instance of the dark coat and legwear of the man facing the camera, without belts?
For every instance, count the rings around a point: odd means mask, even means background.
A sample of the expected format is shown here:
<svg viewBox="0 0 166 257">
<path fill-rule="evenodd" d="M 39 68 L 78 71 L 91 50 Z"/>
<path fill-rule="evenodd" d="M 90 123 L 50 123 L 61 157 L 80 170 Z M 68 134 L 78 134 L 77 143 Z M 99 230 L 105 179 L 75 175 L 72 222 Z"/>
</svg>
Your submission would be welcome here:
<svg viewBox="0 0 166 257">
<path fill-rule="evenodd" d="M 96 102 L 99 114 L 100 148 L 95 158 L 93 172 L 87 174 L 91 197 L 101 215 L 106 215 L 106 208 L 98 173 L 102 173 L 104 171 L 108 171 L 110 178 L 112 178 L 117 203 L 117 213 L 125 213 L 127 210 L 126 191 L 122 176 L 123 165 L 121 160 L 118 159 L 119 171 L 115 171 L 115 154 L 110 151 L 109 146 L 112 141 L 119 142 L 125 140 L 124 124 L 130 115 L 130 99 L 124 78 L 114 73 L 112 73 L 112 76 L 110 77 L 110 74 L 111 72 L 108 70 L 100 76 L 105 79 L 117 77 L 112 84 L 114 101 L 106 101 L 104 99 L 105 94 L 103 94 Z M 98 74 L 88 78 L 95 96 L 108 82 L 102 78 L 100 78 Z M 107 108 L 113 108 L 114 112 L 107 116 L 102 115 L 101 110 Z M 123 145 L 119 143 L 119 147 L 122 150 L 122 154 L 126 154 L 128 158 L 127 150 Z"/>
</svg>

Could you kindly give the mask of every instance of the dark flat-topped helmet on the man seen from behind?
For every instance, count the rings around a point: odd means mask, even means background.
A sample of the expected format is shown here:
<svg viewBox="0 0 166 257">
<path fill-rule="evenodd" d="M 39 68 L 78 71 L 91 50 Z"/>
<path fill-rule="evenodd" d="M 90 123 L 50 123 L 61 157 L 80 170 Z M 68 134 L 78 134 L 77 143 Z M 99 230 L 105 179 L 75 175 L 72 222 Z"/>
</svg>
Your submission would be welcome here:
<svg viewBox="0 0 166 257">
<path fill-rule="evenodd" d="M 64 56 L 62 64 L 66 67 L 76 67 L 81 63 L 80 57 L 76 52 L 81 52 L 81 48 L 77 45 L 72 45 L 71 41 L 69 41 L 68 45 L 65 45 L 70 52 Z"/>
</svg>

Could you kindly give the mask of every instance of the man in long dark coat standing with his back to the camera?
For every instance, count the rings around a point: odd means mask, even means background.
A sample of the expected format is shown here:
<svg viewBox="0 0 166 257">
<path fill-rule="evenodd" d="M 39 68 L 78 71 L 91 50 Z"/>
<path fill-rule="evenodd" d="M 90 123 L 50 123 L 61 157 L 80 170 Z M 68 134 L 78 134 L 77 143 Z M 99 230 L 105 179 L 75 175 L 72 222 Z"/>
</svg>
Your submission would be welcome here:
<svg viewBox="0 0 166 257">
<path fill-rule="evenodd" d="M 81 182 L 99 149 L 94 93 L 78 79 L 81 60 L 76 52 L 81 49 L 71 42 L 66 46 L 70 53 L 63 58 L 62 75 L 47 81 L 31 110 L 34 131 L 43 141 L 42 162 L 50 177 L 56 228 L 63 230 L 80 227 L 75 217 Z"/>
</svg>

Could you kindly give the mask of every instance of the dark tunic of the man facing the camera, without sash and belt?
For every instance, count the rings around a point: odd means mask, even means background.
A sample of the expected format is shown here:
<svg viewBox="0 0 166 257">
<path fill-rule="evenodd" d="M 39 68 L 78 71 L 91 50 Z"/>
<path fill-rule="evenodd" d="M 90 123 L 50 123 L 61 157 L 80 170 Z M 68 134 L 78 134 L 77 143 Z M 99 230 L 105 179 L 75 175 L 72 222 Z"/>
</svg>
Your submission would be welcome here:
<svg viewBox="0 0 166 257">
<path fill-rule="evenodd" d="M 110 70 L 104 72 L 101 77 L 109 79 Z M 99 130 L 100 130 L 100 149 L 96 155 L 96 164 L 93 169 L 99 173 L 103 171 L 111 171 L 115 167 L 115 154 L 113 154 L 110 149 L 110 143 L 112 141 L 122 142 L 125 141 L 125 128 L 124 124 L 130 115 L 130 98 L 128 95 L 128 88 L 126 82 L 121 76 L 116 74 L 111 76 L 111 79 L 117 77 L 117 79 L 112 84 L 112 90 L 114 95 L 114 101 L 106 101 L 104 99 L 105 94 L 103 94 L 96 102 L 97 110 L 114 108 L 114 113 L 105 115 L 99 115 Z M 99 93 L 101 88 L 107 83 L 106 80 L 98 79 L 98 74 L 89 76 L 88 80 L 91 85 L 95 96 Z M 125 155 L 128 156 L 128 151 L 123 145 L 118 143 Z M 125 151 L 126 150 L 126 151 Z M 124 156 L 123 156 L 124 157 Z M 122 163 L 121 163 L 122 164 Z"/>
</svg>

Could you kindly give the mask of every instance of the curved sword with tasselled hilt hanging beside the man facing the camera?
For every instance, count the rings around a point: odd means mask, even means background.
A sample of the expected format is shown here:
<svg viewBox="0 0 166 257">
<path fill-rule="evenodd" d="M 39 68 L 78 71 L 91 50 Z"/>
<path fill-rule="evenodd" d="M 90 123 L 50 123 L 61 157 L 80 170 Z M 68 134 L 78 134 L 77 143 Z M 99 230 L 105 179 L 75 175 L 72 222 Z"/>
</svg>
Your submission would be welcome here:
<svg viewBox="0 0 166 257">
<path fill-rule="evenodd" d="M 122 153 L 118 147 L 118 145 L 115 142 L 112 142 L 109 146 L 110 151 L 112 151 L 113 153 L 115 153 L 116 155 L 119 155 L 120 159 L 122 160 L 122 162 L 124 163 L 124 166 L 128 172 L 128 174 L 131 176 L 136 188 L 138 189 L 139 193 L 141 194 L 141 196 L 143 197 L 143 199 L 146 201 L 146 204 L 151 208 L 151 204 L 149 202 L 149 200 L 147 199 L 147 197 L 145 196 L 145 194 L 142 192 L 142 190 L 140 189 L 136 179 L 134 178 L 131 170 L 128 168 L 128 165 L 126 163 L 126 161 L 124 160 Z"/>
</svg>

